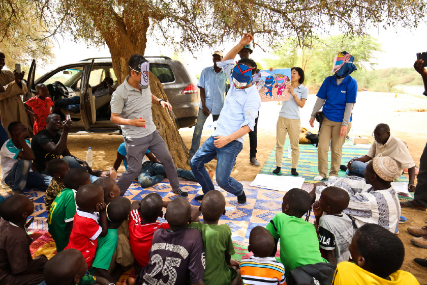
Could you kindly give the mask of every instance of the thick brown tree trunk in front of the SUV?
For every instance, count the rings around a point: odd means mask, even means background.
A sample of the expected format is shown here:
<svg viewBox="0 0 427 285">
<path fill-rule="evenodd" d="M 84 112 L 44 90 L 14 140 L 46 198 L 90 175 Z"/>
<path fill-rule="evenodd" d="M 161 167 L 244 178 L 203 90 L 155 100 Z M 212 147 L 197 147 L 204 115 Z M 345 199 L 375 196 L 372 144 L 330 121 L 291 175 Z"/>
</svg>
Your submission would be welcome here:
<svg viewBox="0 0 427 285">
<path fill-rule="evenodd" d="M 125 80 L 126 76 L 129 75 L 128 60 L 130 56 L 134 53 L 143 54 L 146 40 L 143 42 L 139 41 L 137 44 L 134 44 L 132 39 L 127 37 L 125 33 L 121 33 L 118 39 L 109 39 L 106 37 L 106 43 L 110 48 L 114 73 L 117 77 L 118 83 L 121 84 Z M 163 90 L 162 83 L 151 72 L 149 75 L 149 82 L 151 93 L 160 99 L 168 101 Z M 179 135 L 172 113 L 167 109 L 163 109 L 160 105 L 151 106 L 151 111 L 153 111 L 153 121 L 156 124 L 160 135 L 165 140 L 175 165 L 182 169 L 190 169 L 190 165 L 187 163 L 189 151 L 184 140 L 182 140 L 182 137 Z"/>
</svg>

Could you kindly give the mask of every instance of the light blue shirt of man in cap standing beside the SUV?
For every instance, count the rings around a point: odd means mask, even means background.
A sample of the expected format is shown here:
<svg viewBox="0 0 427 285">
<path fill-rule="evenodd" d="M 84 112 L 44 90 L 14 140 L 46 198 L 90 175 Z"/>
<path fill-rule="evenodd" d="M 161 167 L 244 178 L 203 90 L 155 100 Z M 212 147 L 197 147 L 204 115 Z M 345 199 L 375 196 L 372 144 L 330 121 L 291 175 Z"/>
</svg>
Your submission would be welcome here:
<svg viewBox="0 0 427 285">
<path fill-rule="evenodd" d="M 227 87 L 227 75 L 224 70 L 221 69 L 217 73 L 214 66 L 204 68 L 197 86 L 205 90 L 205 105 L 210 113 L 219 115 L 224 105 L 225 88 Z M 201 100 L 199 108 L 203 108 Z"/>
</svg>

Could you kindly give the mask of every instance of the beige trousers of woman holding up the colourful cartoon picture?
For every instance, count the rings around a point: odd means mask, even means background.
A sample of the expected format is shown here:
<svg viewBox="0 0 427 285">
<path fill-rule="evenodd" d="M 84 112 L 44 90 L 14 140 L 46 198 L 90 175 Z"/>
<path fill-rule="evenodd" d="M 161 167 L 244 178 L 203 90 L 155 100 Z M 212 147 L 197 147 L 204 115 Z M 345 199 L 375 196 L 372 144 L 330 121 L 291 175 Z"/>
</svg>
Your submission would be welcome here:
<svg viewBox="0 0 427 285">
<path fill-rule="evenodd" d="M 299 134 L 301 132 L 301 121 L 299 119 L 287 119 L 279 116 L 276 132 L 276 165 L 282 166 L 283 146 L 286 134 L 289 136 L 292 149 L 292 168 L 296 168 L 299 159 Z"/>
</svg>

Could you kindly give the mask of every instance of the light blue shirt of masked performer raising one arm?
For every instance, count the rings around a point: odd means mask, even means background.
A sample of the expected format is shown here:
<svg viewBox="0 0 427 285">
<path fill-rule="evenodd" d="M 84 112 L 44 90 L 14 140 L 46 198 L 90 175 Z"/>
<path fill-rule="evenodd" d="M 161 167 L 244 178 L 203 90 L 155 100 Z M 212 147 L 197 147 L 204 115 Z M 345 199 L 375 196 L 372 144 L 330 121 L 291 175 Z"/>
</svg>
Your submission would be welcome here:
<svg viewBox="0 0 427 285">
<path fill-rule="evenodd" d="M 228 80 L 233 82 L 231 70 L 234 67 L 234 61 L 217 62 L 217 66 L 223 68 Z M 231 83 L 230 90 L 225 97 L 224 107 L 217 121 L 217 129 L 212 136 L 230 135 L 246 125 L 253 131 L 260 107 L 261 98 L 255 85 L 245 89 L 236 89 Z M 245 136 L 239 137 L 237 141 L 243 144 L 244 138 Z"/>
</svg>

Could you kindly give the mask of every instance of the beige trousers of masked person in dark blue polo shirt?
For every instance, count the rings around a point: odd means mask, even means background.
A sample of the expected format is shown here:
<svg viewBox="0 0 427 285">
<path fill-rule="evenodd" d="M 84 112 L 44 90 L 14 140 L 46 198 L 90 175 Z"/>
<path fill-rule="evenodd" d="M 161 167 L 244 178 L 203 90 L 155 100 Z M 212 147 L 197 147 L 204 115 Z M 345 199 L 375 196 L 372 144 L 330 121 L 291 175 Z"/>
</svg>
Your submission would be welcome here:
<svg viewBox="0 0 427 285">
<path fill-rule="evenodd" d="M 326 178 L 328 172 L 328 150 L 330 146 L 330 172 L 329 176 L 338 177 L 340 170 L 341 155 L 346 136 L 351 129 L 351 123 L 347 126 L 347 133 L 340 137 L 342 122 L 332 122 L 323 117 L 322 127 L 319 134 L 319 145 L 317 147 L 317 166 L 319 175 Z"/>
</svg>

